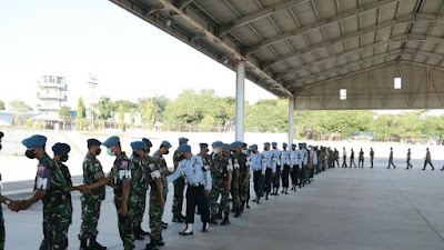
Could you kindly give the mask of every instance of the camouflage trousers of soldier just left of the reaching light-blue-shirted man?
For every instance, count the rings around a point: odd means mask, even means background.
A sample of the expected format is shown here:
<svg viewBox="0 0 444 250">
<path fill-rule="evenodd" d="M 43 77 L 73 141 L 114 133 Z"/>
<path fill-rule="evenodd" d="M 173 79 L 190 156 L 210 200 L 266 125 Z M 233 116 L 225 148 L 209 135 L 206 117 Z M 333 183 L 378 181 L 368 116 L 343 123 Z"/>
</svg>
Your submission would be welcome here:
<svg viewBox="0 0 444 250">
<path fill-rule="evenodd" d="M 163 193 L 163 199 L 167 200 L 167 193 Z M 162 233 L 162 214 L 163 209 L 160 206 L 160 196 L 155 187 L 151 188 L 150 191 L 150 229 L 151 239 L 160 240 L 160 234 Z"/>
</svg>

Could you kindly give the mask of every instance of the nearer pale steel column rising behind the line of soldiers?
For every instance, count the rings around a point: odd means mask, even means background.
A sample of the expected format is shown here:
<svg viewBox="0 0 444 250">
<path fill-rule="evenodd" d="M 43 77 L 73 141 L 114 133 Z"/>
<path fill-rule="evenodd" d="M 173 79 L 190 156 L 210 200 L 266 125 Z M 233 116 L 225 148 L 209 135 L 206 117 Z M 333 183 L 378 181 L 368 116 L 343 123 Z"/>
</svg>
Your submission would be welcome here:
<svg viewBox="0 0 444 250">
<path fill-rule="evenodd" d="M 236 110 L 235 110 L 235 140 L 243 141 L 244 99 L 245 99 L 245 61 L 238 60 L 236 66 Z"/>
</svg>

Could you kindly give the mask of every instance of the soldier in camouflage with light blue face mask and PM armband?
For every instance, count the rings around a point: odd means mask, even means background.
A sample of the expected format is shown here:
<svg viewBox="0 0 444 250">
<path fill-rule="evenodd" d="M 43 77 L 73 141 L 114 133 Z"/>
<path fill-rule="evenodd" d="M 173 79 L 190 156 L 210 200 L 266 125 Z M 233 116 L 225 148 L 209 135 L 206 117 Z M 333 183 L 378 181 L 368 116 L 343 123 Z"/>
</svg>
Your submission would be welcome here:
<svg viewBox="0 0 444 250">
<path fill-rule="evenodd" d="M 119 137 L 108 138 L 108 140 L 103 142 L 103 146 L 108 148 L 108 154 L 115 156 L 114 164 L 107 178 L 87 187 L 92 190 L 108 183 L 111 184 L 114 190 L 114 206 L 118 212 L 119 234 L 124 249 L 132 250 L 135 248 L 133 234 L 134 211 L 131 210 L 131 208 L 133 208 L 131 203 L 133 198 L 130 197 L 130 193 L 132 170 L 134 167 L 130 158 L 122 151 Z"/>
</svg>

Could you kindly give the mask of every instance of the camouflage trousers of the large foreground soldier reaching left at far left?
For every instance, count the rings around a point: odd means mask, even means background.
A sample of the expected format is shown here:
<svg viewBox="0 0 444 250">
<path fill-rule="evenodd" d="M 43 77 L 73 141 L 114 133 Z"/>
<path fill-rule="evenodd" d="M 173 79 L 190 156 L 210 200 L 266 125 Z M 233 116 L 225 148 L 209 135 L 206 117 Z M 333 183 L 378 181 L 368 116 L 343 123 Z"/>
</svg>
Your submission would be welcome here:
<svg viewBox="0 0 444 250">
<path fill-rule="evenodd" d="M 71 219 L 68 210 L 68 206 L 57 208 L 43 206 L 43 240 L 40 250 L 68 249 L 68 228 Z"/>
</svg>

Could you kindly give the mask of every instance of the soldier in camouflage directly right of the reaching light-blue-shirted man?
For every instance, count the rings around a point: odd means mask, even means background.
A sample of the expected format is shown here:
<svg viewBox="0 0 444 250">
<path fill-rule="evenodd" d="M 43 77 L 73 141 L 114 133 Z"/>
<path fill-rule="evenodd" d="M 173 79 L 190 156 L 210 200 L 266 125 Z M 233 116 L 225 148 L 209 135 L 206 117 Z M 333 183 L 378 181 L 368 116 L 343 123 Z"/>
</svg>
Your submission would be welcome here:
<svg viewBox="0 0 444 250">
<path fill-rule="evenodd" d="M 223 156 L 223 143 L 216 141 L 213 143 L 213 159 L 211 161 L 210 171 L 212 172 L 213 186 L 210 193 L 211 197 L 211 219 L 210 223 L 218 223 L 215 214 L 218 210 L 218 199 L 221 196 L 221 204 L 225 214 L 221 226 L 230 223 L 230 199 L 229 192 L 232 180 L 232 166 L 229 164 L 228 157 Z"/>
</svg>

